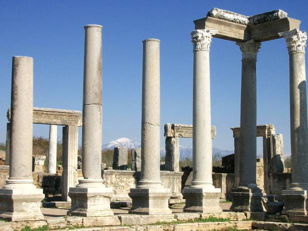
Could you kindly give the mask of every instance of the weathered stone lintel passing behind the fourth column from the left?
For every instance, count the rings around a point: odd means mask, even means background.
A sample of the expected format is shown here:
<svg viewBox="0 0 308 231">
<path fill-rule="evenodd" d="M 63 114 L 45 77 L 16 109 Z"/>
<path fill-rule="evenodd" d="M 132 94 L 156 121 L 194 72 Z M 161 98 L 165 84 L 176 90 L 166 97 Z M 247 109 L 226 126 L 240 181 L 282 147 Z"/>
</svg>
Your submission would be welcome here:
<svg viewBox="0 0 308 231">
<path fill-rule="evenodd" d="M 216 127 L 211 126 L 210 129 L 211 138 L 216 137 Z M 164 125 L 164 136 L 180 138 L 192 138 L 192 125 L 189 124 L 165 124 Z"/>
</svg>

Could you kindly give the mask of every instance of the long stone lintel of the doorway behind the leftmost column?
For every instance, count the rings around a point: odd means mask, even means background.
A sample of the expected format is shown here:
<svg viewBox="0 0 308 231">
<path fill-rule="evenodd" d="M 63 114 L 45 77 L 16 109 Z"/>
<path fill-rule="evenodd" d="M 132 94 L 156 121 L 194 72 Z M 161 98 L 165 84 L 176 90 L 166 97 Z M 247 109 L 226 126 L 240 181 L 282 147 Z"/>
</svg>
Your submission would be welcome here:
<svg viewBox="0 0 308 231">
<path fill-rule="evenodd" d="M 10 121 L 10 108 L 7 110 L 7 119 Z M 33 107 L 33 124 L 53 124 L 63 126 L 82 126 L 80 111 Z"/>
</svg>

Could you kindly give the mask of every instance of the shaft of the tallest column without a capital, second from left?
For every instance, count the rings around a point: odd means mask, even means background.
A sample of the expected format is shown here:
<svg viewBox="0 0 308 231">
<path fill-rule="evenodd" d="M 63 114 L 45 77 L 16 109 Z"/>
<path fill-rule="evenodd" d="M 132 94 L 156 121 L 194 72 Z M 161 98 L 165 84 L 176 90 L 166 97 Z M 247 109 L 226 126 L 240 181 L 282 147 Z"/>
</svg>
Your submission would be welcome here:
<svg viewBox="0 0 308 231">
<path fill-rule="evenodd" d="M 82 174 L 84 179 L 101 179 L 102 26 L 84 29 Z"/>
</svg>

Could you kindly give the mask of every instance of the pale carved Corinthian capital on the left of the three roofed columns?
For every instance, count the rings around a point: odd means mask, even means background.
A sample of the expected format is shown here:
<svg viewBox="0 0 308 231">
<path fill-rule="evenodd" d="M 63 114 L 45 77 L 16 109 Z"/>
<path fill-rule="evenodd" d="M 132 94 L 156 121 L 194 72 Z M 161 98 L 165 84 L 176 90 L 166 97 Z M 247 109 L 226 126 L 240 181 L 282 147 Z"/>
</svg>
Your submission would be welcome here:
<svg viewBox="0 0 308 231">
<path fill-rule="evenodd" d="M 217 30 L 196 29 L 193 30 L 191 35 L 191 42 L 193 50 L 209 50 L 211 36 L 217 33 Z"/>
</svg>

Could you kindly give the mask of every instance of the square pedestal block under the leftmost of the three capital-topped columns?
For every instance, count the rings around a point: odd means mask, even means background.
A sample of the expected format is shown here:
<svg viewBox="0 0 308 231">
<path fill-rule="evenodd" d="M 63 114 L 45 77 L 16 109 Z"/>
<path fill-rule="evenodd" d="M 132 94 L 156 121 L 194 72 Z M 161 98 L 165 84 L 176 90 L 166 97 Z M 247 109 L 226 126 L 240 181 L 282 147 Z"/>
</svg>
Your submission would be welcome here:
<svg viewBox="0 0 308 231">
<path fill-rule="evenodd" d="M 183 189 L 182 194 L 186 201 L 183 209 L 184 212 L 203 214 L 222 212 L 222 209 L 219 207 L 220 189 L 206 190 L 187 187 Z"/>
</svg>

